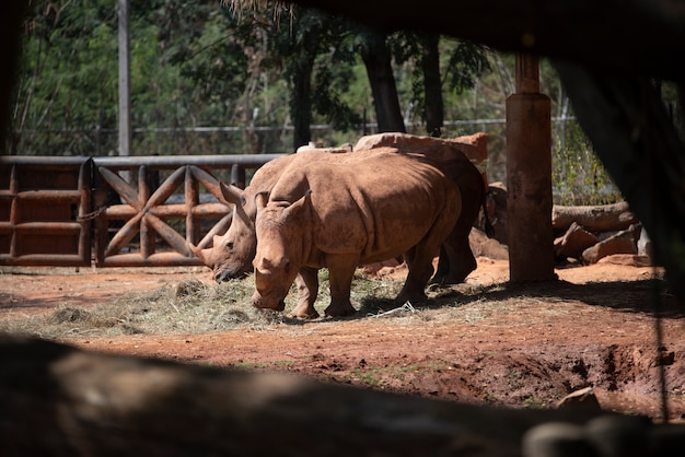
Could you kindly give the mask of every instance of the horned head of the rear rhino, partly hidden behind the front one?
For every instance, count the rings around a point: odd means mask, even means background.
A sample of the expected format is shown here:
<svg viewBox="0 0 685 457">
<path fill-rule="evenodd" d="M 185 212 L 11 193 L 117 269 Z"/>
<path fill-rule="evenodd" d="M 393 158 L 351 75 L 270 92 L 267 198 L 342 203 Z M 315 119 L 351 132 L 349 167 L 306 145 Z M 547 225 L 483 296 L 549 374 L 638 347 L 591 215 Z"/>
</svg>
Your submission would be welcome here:
<svg viewBox="0 0 685 457">
<path fill-rule="evenodd" d="M 214 235 L 212 247 L 193 249 L 201 262 L 211 268 L 217 282 L 240 278 L 251 272 L 252 259 L 257 247 L 254 199 L 248 198 L 247 191 L 235 186 L 220 183 L 220 187 L 225 201 L 234 206 L 231 226 L 224 235 Z"/>
</svg>

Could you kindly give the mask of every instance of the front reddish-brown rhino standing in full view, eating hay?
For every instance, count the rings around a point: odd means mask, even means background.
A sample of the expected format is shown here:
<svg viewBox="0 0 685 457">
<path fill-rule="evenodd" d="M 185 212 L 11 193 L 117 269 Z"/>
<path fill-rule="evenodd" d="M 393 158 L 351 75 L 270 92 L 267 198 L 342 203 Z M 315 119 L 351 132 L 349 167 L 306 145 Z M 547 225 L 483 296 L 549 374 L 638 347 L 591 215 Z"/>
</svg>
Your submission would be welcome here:
<svg viewBox="0 0 685 457">
<path fill-rule="evenodd" d="M 396 301 L 422 301 L 432 259 L 461 213 L 461 194 L 436 166 L 394 149 L 378 149 L 339 161 L 306 160 L 288 167 L 271 188 L 257 195 L 257 251 L 253 305 L 283 309 L 298 274 L 309 294 L 294 316 L 314 317 L 317 271 L 327 268 L 327 316 L 355 313 L 355 270 L 404 255 L 408 266 Z M 346 154 L 347 155 L 347 154 Z"/>
</svg>

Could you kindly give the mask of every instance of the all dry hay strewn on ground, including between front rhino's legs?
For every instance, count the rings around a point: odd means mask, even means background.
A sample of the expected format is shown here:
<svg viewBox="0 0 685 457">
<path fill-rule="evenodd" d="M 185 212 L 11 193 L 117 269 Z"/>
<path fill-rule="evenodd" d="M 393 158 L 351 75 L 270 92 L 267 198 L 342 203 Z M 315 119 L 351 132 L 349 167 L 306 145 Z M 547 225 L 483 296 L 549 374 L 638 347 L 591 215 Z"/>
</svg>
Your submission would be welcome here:
<svg viewBox="0 0 685 457">
<path fill-rule="evenodd" d="M 397 309 L 393 298 L 402 282 L 392 279 L 374 280 L 359 273 L 355 277 L 351 300 L 359 309 L 351 318 L 393 318 L 432 320 L 426 316 L 426 306 Z M 468 288 L 466 288 L 468 289 Z M 129 292 L 111 302 L 92 306 L 63 304 L 45 315 L 28 315 L 0 321 L 0 331 L 38 336 L 48 339 L 73 337 L 106 337 L 117 335 L 193 335 L 239 328 L 265 329 L 279 325 L 301 324 L 287 317 L 295 305 L 294 288 L 286 298 L 285 312 L 260 310 L 249 302 L 254 292 L 251 277 L 223 284 L 205 284 L 186 280 L 175 286 L 165 285 L 150 292 Z M 471 293 L 479 293 L 472 290 Z M 444 296 L 440 296 L 443 294 Z M 429 292 L 436 297 L 430 308 L 446 310 L 462 294 L 451 290 Z M 328 273 L 320 272 L 317 310 L 330 301 Z M 396 310 L 396 312 L 392 312 Z M 391 313 L 388 313 L 391 312 Z"/>
</svg>

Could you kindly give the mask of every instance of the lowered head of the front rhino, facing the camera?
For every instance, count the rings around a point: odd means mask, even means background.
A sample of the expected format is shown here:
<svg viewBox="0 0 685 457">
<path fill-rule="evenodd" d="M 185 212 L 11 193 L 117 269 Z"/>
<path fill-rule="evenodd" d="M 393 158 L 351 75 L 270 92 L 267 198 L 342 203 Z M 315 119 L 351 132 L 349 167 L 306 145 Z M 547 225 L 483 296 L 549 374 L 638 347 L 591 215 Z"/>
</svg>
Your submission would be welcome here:
<svg viewBox="0 0 685 457">
<path fill-rule="evenodd" d="M 255 293 L 252 304 L 258 308 L 282 310 L 283 300 L 302 263 L 304 238 L 301 215 L 309 206 L 309 192 L 294 203 L 257 201 L 257 253 L 254 259 Z"/>
</svg>

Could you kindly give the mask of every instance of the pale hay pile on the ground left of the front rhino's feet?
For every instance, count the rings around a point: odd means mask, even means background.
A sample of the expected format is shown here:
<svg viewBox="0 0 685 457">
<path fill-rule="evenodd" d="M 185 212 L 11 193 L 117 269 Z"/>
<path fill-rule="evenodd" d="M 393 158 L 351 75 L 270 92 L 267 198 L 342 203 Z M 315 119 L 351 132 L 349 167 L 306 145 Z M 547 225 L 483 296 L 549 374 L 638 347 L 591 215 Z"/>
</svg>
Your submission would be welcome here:
<svg viewBox="0 0 685 457">
<path fill-rule="evenodd" d="M 249 280 L 221 285 L 187 280 L 151 292 L 130 292 L 94 306 L 61 305 L 46 315 L 0 323 L 0 331 L 54 339 L 201 333 L 240 326 L 258 328 L 282 321 L 280 313 L 264 313 L 248 305 L 253 286 Z"/>
</svg>

